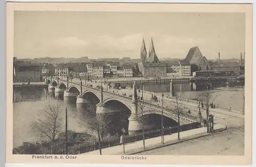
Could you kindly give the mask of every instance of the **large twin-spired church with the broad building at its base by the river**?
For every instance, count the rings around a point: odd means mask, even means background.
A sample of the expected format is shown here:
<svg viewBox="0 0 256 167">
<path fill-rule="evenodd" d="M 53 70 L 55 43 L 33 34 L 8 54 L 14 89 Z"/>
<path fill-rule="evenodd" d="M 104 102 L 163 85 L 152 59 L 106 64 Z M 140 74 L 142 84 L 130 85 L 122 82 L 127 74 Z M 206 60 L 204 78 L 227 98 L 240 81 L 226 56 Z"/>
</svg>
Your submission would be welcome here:
<svg viewBox="0 0 256 167">
<path fill-rule="evenodd" d="M 142 44 L 140 48 L 140 58 L 141 62 L 138 63 L 138 67 L 143 77 L 160 78 L 166 76 L 167 66 L 165 62 L 159 61 L 152 38 L 150 43 L 150 49 L 148 50 L 148 57 L 144 38 L 142 39 Z"/>
</svg>

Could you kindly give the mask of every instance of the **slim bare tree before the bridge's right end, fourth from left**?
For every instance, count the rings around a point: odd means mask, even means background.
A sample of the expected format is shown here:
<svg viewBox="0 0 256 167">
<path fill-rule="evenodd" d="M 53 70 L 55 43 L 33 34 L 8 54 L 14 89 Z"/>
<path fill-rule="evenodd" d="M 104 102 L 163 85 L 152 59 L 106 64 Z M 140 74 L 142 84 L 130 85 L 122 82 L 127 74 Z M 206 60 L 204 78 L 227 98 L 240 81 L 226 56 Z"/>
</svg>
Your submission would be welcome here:
<svg viewBox="0 0 256 167">
<path fill-rule="evenodd" d="M 170 100 L 170 105 L 174 107 L 175 113 L 178 115 L 178 140 L 180 139 L 180 113 L 183 112 L 186 107 L 184 105 L 183 92 L 173 92 L 173 100 Z"/>
</svg>

